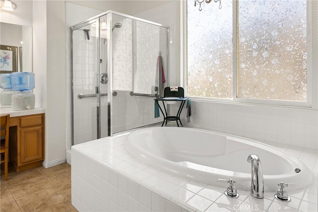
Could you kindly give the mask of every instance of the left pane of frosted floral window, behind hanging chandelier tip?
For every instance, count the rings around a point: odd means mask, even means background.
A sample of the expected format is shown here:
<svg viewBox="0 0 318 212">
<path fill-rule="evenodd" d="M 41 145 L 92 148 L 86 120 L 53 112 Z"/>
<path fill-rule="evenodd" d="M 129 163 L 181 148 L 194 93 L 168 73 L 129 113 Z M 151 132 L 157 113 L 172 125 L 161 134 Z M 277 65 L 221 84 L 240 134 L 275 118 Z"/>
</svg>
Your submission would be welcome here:
<svg viewBox="0 0 318 212">
<path fill-rule="evenodd" d="M 187 1 L 187 95 L 233 97 L 233 6 Z"/>
</svg>

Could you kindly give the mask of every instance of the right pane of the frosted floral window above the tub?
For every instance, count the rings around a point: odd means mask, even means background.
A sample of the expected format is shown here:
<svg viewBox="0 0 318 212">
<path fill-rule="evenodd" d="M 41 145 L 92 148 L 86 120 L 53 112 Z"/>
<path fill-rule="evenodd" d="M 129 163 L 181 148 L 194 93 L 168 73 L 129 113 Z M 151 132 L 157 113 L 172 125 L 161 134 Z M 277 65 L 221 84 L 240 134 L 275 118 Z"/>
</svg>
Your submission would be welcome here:
<svg viewBox="0 0 318 212">
<path fill-rule="evenodd" d="M 306 0 L 238 1 L 239 98 L 307 101 Z"/>
</svg>

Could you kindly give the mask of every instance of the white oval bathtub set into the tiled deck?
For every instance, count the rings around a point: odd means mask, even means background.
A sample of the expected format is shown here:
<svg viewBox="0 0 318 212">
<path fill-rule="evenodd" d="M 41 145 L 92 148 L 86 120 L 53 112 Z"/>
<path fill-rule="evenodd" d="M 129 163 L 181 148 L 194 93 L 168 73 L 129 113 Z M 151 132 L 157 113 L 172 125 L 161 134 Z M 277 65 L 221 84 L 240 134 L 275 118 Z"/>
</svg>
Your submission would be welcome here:
<svg viewBox="0 0 318 212">
<path fill-rule="evenodd" d="M 258 155 L 264 174 L 264 191 L 276 192 L 277 183 L 296 183 L 288 191 L 312 182 L 312 173 L 293 156 L 270 145 L 211 131 L 154 127 L 132 132 L 126 148 L 145 163 L 192 180 L 227 187 L 217 179 L 234 179 L 239 190 L 250 190 L 249 154 Z M 301 169 L 296 173 L 295 169 Z"/>
</svg>

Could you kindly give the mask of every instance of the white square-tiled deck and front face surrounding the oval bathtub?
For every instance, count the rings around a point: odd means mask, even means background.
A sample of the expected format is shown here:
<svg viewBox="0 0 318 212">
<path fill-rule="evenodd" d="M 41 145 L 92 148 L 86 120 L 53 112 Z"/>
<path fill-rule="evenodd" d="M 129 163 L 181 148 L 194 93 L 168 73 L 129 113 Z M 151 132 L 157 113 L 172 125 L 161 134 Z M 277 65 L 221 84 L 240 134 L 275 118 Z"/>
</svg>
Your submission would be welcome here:
<svg viewBox="0 0 318 212">
<path fill-rule="evenodd" d="M 317 212 L 317 151 L 277 144 L 313 170 L 309 187 L 289 192 L 290 203 L 265 193 L 262 200 L 239 191 L 227 198 L 225 188 L 198 183 L 134 158 L 124 145 L 128 134 L 72 146 L 72 204 L 79 211 L 300 211 Z M 288 192 L 288 188 L 287 188 Z"/>
</svg>

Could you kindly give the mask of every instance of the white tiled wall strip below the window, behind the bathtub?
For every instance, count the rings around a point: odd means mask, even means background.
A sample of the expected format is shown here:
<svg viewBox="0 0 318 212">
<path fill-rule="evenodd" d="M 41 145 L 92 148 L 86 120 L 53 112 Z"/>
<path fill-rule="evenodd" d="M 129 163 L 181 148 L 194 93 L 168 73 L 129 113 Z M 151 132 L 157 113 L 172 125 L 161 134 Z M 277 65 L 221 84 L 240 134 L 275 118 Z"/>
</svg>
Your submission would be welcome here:
<svg viewBox="0 0 318 212">
<path fill-rule="evenodd" d="M 191 122 L 183 124 L 257 141 L 317 149 L 318 111 L 191 101 Z"/>
</svg>

